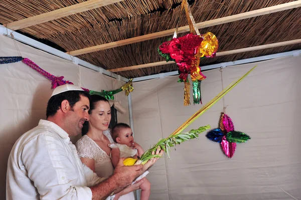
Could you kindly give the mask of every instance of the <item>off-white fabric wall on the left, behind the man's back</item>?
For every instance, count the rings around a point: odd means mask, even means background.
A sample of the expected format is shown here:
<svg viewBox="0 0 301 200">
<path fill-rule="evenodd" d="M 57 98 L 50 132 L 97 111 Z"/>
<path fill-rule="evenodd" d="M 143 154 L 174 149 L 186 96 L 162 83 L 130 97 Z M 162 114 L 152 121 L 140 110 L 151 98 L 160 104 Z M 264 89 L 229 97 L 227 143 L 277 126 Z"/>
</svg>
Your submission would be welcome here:
<svg viewBox="0 0 301 200">
<path fill-rule="evenodd" d="M 17 42 L 24 58 L 42 69 L 81 87 L 101 91 L 120 87 L 123 82 L 113 80 L 70 61 Z M 19 56 L 12 39 L 0 36 L 0 56 Z M 46 106 L 51 96 L 51 81 L 22 62 L 0 65 L 0 199 L 5 199 L 7 161 L 15 141 L 26 131 L 46 118 Z M 118 113 L 118 121 L 129 123 L 128 102 L 124 92 L 115 95 L 127 113 Z M 72 138 L 76 141 L 78 137 Z"/>
</svg>

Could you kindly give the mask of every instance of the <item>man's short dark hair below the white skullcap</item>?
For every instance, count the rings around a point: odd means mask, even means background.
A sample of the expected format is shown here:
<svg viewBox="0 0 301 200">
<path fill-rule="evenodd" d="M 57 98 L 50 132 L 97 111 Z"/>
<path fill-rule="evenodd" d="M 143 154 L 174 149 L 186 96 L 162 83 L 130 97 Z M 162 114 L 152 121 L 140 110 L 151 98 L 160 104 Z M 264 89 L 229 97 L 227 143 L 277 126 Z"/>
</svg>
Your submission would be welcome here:
<svg viewBox="0 0 301 200">
<path fill-rule="evenodd" d="M 48 118 L 55 115 L 60 109 L 62 101 L 64 100 L 67 100 L 69 102 L 69 105 L 72 109 L 76 102 L 80 101 L 80 96 L 87 97 L 90 100 L 89 93 L 80 90 L 71 90 L 52 96 L 47 104 L 46 117 Z"/>
</svg>

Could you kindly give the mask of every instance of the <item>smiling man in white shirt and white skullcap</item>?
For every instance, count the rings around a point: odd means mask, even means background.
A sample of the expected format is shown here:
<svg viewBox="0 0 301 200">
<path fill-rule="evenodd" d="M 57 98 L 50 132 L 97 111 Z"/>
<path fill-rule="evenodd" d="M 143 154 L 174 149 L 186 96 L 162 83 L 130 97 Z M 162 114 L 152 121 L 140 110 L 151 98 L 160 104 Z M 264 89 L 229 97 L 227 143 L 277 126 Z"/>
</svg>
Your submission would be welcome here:
<svg viewBox="0 0 301 200">
<path fill-rule="evenodd" d="M 47 120 L 41 119 L 37 127 L 23 134 L 11 151 L 7 199 L 105 199 L 130 185 L 156 162 L 157 158 L 143 167 L 124 166 L 120 159 L 113 175 L 106 179 L 82 164 L 69 136 L 80 134 L 83 123 L 89 120 L 89 97 L 70 84 L 53 91 Z"/>
</svg>

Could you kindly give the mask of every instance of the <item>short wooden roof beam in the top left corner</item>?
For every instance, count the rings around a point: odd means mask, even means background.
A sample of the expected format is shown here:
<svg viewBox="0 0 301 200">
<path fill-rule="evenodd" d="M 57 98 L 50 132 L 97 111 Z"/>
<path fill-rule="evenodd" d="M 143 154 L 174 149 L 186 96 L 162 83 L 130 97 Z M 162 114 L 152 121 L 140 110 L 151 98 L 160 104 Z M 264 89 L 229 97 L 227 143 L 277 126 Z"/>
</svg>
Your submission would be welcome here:
<svg viewBox="0 0 301 200">
<path fill-rule="evenodd" d="M 11 30 L 16 31 L 18 29 L 23 29 L 26 27 L 42 24 L 45 22 L 49 22 L 52 20 L 66 17 L 66 16 L 74 15 L 77 13 L 82 13 L 82 12 L 89 11 L 92 9 L 97 9 L 97 8 L 100 8 L 103 6 L 107 6 L 107 5 L 114 4 L 117 2 L 122 2 L 122 1 L 124 1 L 124 0 L 90 0 L 87 2 L 83 2 L 83 3 L 75 4 L 75 5 L 72 5 L 69 7 L 65 7 L 62 9 L 58 9 L 55 11 L 51 11 L 48 13 L 43 13 L 41 15 L 37 15 L 37 16 L 33 16 L 30 18 L 16 21 L 16 22 L 8 23 L 4 26 Z"/>
</svg>

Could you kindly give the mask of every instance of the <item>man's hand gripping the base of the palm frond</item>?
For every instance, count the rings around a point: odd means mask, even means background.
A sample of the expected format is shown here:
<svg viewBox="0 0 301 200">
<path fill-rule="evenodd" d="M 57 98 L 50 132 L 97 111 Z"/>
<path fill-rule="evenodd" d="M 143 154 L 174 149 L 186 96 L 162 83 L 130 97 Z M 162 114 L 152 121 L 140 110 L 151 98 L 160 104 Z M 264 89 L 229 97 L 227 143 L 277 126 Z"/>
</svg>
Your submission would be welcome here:
<svg viewBox="0 0 301 200">
<path fill-rule="evenodd" d="M 116 178 L 118 188 L 130 185 L 141 174 L 142 164 L 124 166 L 124 158 L 120 158 L 112 176 Z"/>
</svg>

